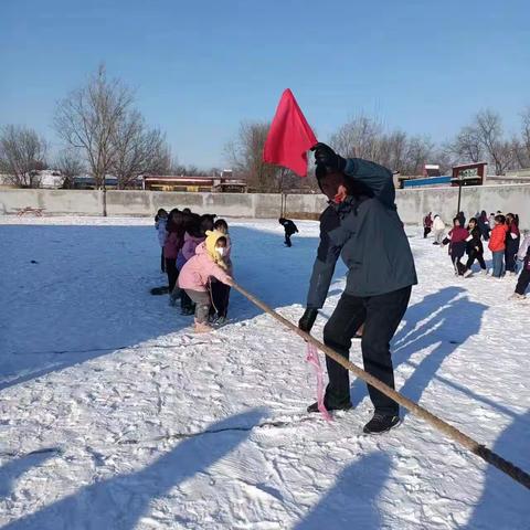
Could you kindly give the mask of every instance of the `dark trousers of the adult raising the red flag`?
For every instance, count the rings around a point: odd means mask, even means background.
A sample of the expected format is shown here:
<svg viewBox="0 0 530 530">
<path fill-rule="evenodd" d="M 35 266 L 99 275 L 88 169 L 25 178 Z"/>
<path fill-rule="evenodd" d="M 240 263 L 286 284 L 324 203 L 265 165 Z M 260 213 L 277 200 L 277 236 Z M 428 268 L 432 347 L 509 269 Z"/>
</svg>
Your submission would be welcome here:
<svg viewBox="0 0 530 530">
<path fill-rule="evenodd" d="M 349 359 L 351 339 L 364 322 L 361 349 L 364 370 L 390 388 L 394 388 L 394 369 L 390 356 L 390 341 L 403 318 L 411 298 L 412 287 L 379 296 L 359 297 L 342 294 L 339 304 L 324 328 L 324 342 Z M 326 405 L 350 403 L 349 371 L 326 358 L 329 384 Z M 377 412 L 398 415 L 399 405 L 382 392 L 368 385 Z"/>
</svg>

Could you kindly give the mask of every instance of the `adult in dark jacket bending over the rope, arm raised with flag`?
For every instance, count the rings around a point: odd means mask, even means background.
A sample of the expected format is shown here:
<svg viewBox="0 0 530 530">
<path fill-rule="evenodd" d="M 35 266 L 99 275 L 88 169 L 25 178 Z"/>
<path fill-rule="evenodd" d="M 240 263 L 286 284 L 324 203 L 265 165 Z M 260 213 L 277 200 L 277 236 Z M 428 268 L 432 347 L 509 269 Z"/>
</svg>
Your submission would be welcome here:
<svg viewBox="0 0 530 530">
<path fill-rule="evenodd" d="M 320 244 L 300 329 L 310 331 L 322 307 L 339 255 L 348 267 L 339 304 L 324 328 L 324 341 L 349 357 L 351 339 L 364 324 L 364 370 L 391 388 L 394 372 L 390 341 L 417 283 L 409 240 L 395 208 L 392 173 L 378 163 L 343 159 L 325 144 L 314 147 L 317 179 L 330 205 L 320 216 Z M 351 409 L 348 370 L 326 358 L 329 410 Z M 368 385 L 375 412 L 365 433 L 382 433 L 400 422 L 399 405 Z M 317 404 L 308 407 L 318 411 Z"/>
</svg>

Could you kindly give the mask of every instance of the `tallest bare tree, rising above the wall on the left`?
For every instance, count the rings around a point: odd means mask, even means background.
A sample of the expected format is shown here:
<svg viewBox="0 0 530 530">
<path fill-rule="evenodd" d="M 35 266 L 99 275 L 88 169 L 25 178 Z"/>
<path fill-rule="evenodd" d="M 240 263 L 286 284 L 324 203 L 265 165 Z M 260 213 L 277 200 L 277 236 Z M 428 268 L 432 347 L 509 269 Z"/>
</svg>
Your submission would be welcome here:
<svg viewBox="0 0 530 530">
<path fill-rule="evenodd" d="M 116 157 L 115 137 L 132 104 L 121 82 L 109 81 L 100 65 L 87 85 L 59 103 L 54 126 L 65 144 L 84 153 L 96 187 L 104 183 Z"/>
</svg>

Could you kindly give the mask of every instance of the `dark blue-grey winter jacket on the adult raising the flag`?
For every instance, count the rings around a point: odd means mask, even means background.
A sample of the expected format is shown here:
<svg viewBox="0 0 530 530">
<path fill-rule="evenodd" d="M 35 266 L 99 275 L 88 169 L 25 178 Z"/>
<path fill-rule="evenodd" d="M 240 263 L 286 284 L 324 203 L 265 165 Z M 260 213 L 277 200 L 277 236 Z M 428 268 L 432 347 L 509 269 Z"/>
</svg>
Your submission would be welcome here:
<svg viewBox="0 0 530 530">
<path fill-rule="evenodd" d="M 378 163 L 348 159 L 351 195 L 320 216 L 320 244 L 307 307 L 322 307 L 339 255 L 348 267 L 346 293 L 370 297 L 417 284 L 414 258 L 395 208 L 392 173 Z"/>
</svg>

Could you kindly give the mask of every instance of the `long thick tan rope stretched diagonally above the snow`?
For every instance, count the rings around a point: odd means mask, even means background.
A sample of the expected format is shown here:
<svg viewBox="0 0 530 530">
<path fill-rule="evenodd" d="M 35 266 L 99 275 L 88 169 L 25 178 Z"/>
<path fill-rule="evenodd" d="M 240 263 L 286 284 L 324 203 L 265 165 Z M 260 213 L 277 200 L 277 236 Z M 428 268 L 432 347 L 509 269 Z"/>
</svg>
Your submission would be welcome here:
<svg viewBox="0 0 530 530">
<path fill-rule="evenodd" d="M 317 340 L 315 337 L 311 337 L 309 333 L 306 333 L 305 331 L 299 329 L 298 326 L 295 326 L 293 322 L 284 318 L 278 312 L 276 312 L 272 307 L 267 306 L 265 303 L 256 298 L 254 295 L 245 290 L 243 287 L 241 287 L 236 283 L 233 284 L 233 287 L 237 292 L 240 292 L 245 298 L 247 298 L 250 301 L 256 305 L 259 309 L 263 309 L 265 312 L 267 312 L 273 318 L 278 320 L 278 322 L 283 324 L 286 328 L 290 329 L 296 335 L 301 337 L 305 341 L 314 344 L 319 350 L 324 351 L 324 353 L 326 353 L 329 358 L 333 359 L 333 361 L 338 362 L 340 365 L 342 365 L 350 372 L 353 372 L 358 378 L 362 379 L 364 382 L 367 382 L 371 386 L 378 389 L 384 395 L 391 398 L 396 403 L 399 403 L 406 410 L 411 411 L 417 417 L 425 420 L 433 427 L 437 428 L 438 431 L 447 435 L 449 438 L 455 439 L 460 445 L 469 449 L 471 453 L 483 458 L 483 460 L 497 467 L 497 469 L 501 470 L 502 473 L 511 477 L 517 483 L 530 489 L 530 475 L 526 473 L 523 469 L 521 469 L 520 467 L 517 467 L 511 462 L 506 460 L 497 453 L 494 453 L 491 449 L 488 449 L 485 445 L 479 444 L 471 437 L 467 436 L 467 434 L 464 434 L 462 431 L 458 431 L 456 427 L 448 424 L 447 422 L 439 418 L 438 416 L 434 415 L 433 413 L 428 412 L 423 406 L 420 406 L 414 401 L 411 401 L 409 398 L 405 398 L 404 395 L 400 394 L 394 389 L 391 389 L 379 379 L 374 378 L 370 373 L 359 368 L 357 364 L 353 364 L 351 361 L 349 361 L 341 354 L 337 353 L 335 350 L 324 344 L 322 342 Z"/>
</svg>

